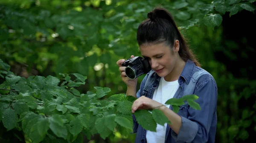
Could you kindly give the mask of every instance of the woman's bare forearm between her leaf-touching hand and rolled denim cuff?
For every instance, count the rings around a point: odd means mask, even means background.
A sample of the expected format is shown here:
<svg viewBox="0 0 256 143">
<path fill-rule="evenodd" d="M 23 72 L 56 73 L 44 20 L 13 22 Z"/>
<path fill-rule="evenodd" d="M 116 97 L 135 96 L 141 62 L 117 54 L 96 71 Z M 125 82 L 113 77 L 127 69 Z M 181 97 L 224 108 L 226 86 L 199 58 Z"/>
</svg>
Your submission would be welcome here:
<svg viewBox="0 0 256 143">
<path fill-rule="evenodd" d="M 172 124 L 169 124 L 169 126 L 178 135 L 181 127 L 180 115 L 177 115 L 175 112 L 173 112 L 171 109 L 167 108 L 166 106 L 162 106 L 159 109 L 164 113 L 164 115 L 166 115 L 169 121 L 171 121 Z"/>
</svg>

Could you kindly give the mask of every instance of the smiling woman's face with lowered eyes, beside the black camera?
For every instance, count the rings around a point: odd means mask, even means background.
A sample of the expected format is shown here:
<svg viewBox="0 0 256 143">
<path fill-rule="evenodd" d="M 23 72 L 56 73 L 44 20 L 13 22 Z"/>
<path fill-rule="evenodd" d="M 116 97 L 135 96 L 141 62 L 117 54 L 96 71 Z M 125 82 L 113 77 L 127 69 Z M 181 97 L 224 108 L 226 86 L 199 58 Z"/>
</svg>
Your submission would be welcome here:
<svg viewBox="0 0 256 143">
<path fill-rule="evenodd" d="M 140 52 L 145 59 L 148 59 L 152 70 L 158 76 L 165 77 L 172 72 L 175 67 L 178 53 L 177 49 L 170 48 L 165 43 L 146 44 L 140 46 Z"/>
</svg>

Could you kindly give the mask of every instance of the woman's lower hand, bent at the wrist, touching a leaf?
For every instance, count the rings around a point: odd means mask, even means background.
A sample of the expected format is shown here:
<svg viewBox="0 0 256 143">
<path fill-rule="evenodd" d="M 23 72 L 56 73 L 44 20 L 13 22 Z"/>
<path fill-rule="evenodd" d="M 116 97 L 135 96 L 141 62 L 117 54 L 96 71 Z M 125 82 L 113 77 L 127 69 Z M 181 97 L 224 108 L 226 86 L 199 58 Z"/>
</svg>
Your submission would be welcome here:
<svg viewBox="0 0 256 143">
<path fill-rule="evenodd" d="M 147 98 L 145 96 L 141 96 L 137 100 L 134 101 L 131 112 L 134 113 L 137 109 L 153 109 L 155 107 L 163 106 L 163 104 L 154 101 L 150 98 Z"/>
</svg>

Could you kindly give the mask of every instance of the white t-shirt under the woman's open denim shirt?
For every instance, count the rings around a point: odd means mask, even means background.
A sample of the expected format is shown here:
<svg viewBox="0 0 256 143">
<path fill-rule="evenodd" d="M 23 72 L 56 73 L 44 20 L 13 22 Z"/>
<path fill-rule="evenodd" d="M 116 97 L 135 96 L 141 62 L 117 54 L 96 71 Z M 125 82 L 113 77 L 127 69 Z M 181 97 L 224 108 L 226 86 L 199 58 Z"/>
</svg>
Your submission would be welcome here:
<svg viewBox="0 0 256 143">
<path fill-rule="evenodd" d="M 159 103 L 165 104 L 167 100 L 173 98 L 177 89 L 179 88 L 178 80 L 176 81 L 166 81 L 163 77 L 160 79 L 159 87 L 154 90 L 152 99 Z M 170 107 L 170 105 L 166 105 L 166 107 Z M 165 142 L 165 134 L 166 134 L 166 126 L 157 124 L 157 132 L 147 131 L 146 139 L 147 143 L 164 143 Z"/>
</svg>

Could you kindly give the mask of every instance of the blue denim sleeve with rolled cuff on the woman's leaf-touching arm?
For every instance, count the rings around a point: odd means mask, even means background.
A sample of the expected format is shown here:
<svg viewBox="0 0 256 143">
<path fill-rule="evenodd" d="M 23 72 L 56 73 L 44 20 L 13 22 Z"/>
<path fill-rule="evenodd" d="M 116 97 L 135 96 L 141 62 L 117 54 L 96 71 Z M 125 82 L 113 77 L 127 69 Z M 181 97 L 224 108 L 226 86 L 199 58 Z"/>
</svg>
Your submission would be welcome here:
<svg viewBox="0 0 256 143">
<path fill-rule="evenodd" d="M 218 92 L 215 80 L 212 77 L 202 80 L 195 87 L 194 94 L 199 97 L 195 102 L 200 105 L 201 110 L 190 107 L 189 117 L 181 116 L 179 134 L 177 135 L 172 130 L 172 137 L 176 142 L 206 143 L 208 140 L 209 129 L 217 106 Z"/>
</svg>

